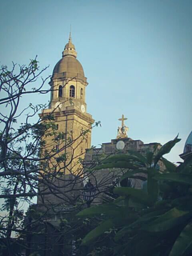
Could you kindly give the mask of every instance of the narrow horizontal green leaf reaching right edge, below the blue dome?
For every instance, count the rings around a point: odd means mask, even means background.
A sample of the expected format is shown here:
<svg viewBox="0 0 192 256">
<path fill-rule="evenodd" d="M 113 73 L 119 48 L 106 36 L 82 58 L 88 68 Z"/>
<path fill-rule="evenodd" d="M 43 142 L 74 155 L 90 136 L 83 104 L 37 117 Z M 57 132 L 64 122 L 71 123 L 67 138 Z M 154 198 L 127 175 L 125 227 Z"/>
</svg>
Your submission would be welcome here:
<svg viewBox="0 0 192 256">
<path fill-rule="evenodd" d="M 165 173 L 153 177 L 155 180 L 171 180 L 192 185 L 192 174 Z"/>
</svg>

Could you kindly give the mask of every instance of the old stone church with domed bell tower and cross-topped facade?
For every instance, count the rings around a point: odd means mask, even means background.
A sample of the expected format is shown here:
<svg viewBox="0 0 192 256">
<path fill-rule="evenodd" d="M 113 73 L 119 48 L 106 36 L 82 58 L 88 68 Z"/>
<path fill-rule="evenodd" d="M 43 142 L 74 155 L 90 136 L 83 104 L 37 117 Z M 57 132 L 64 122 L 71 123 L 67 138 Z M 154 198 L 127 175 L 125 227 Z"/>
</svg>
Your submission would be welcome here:
<svg viewBox="0 0 192 256">
<path fill-rule="evenodd" d="M 63 250 L 69 250 L 72 255 L 75 255 L 73 254 L 75 240 L 72 240 L 74 238 L 71 238 L 70 249 L 63 247 L 63 241 L 57 245 L 58 237 L 60 237 L 57 230 L 61 220 L 65 219 L 66 216 L 71 217 L 74 212 L 85 207 L 82 191 L 89 182 L 96 190 L 92 204 L 100 204 L 104 190 L 114 184 L 119 186 L 118 179 L 126 171 L 114 168 L 115 170 L 111 172 L 110 169 L 104 168 L 90 172 L 87 177 L 84 175 L 87 168 L 96 166 L 97 160 L 103 156 L 126 154 L 130 151 L 146 156 L 148 152 L 157 153 L 162 146 L 157 142 L 145 144 L 142 140 L 129 138 L 128 126 L 126 126 L 127 118 L 124 116 L 126 113 L 120 112 L 120 124 L 117 127 L 116 138 L 110 142 L 102 143 L 100 148 L 91 148 L 91 131 L 92 126 L 94 126 L 94 119 L 91 114 L 87 113 L 86 86 L 88 86 L 88 82 L 83 67 L 76 57 L 77 52 L 70 34 L 68 43 L 62 52 L 62 58 L 55 65 L 50 79 L 49 108 L 40 114 L 42 119 L 49 114 L 54 116 L 54 129 L 57 138 L 59 138 L 59 140 L 53 140 L 50 136 L 45 138 L 47 152 L 55 152 L 55 154 L 48 163 L 49 168 L 46 167 L 43 171 L 45 176 L 48 175 L 49 178 L 51 173 L 54 174 L 54 178 L 57 174 L 58 177 L 55 180 L 52 179 L 54 188 L 46 188 L 39 184 L 39 196 L 34 210 L 35 212 L 45 212 L 46 210 L 44 222 L 38 226 L 39 231 L 46 227 L 46 236 L 33 236 L 30 243 L 32 251 L 37 250 L 36 244 L 42 245 L 38 249 L 40 255 L 42 251 L 44 252 L 43 255 L 52 255 L 52 251 L 54 255 L 60 255 Z M 62 140 L 58 142 L 60 138 Z M 186 142 L 184 154 L 181 157 L 184 159 L 186 155 L 191 154 L 191 149 L 192 133 Z M 58 162 L 58 158 L 63 155 L 66 159 Z M 158 161 L 157 166 L 162 171 L 165 169 L 161 160 Z M 146 180 L 145 176 L 143 178 Z M 141 189 L 143 186 L 142 179 L 130 178 L 130 186 Z M 59 194 L 57 193 L 58 188 L 61 191 Z M 41 192 L 44 195 L 41 195 Z M 81 202 L 78 204 L 80 208 L 75 208 L 76 202 Z"/>
</svg>

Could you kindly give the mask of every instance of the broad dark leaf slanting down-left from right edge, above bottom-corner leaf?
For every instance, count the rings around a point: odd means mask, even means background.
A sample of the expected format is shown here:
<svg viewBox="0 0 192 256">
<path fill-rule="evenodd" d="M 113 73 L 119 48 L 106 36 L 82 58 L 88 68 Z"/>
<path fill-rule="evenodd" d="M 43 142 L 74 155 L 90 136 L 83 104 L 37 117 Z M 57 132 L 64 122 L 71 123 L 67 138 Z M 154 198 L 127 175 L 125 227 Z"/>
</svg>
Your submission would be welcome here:
<svg viewBox="0 0 192 256">
<path fill-rule="evenodd" d="M 191 218 L 192 212 L 178 210 L 172 208 L 165 214 L 162 214 L 159 218 L 152 221 L 144 228 L 149 232 L 162 232 L 173 228 L 174 226 L 180 225 L 182 222 Z"/>
</svg>

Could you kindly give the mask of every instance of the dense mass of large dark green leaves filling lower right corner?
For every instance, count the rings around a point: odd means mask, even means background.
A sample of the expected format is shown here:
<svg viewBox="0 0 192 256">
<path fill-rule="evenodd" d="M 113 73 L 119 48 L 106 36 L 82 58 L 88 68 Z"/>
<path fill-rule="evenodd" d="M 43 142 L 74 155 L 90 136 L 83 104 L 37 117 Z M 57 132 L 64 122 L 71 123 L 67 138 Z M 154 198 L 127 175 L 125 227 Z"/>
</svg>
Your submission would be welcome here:
<svg viewBox="0 0 192 256">
<path fill-rule="evenodd" d="M 142 190 L 121 187 L 114 188 L 118 198 L 113 202 L 77 214 L 80 218 L 102 217 L 98 226 L 82 240 L 82 245 L 91 246 L 102 236 L 108 237 L 110 230 L 111 255 L 132 256 L 190 256 L 192 254 L 192 159 L 175 166 L 164 154 L 179 141 L 164 144 L 158 153 L 141 156 L 131 152 L 109 158 L 108 168 L 122 166 L 122 160 L 136 165 L 120 180 L 137 173 L 147 174 Z M 166 170 L 158 170 L 162 159 Z M 140 165 L 140 166 L 139 166 Z M 99 255 L 99 254 L 98 254 Z M 102 254 L 105 255 L 105 254 Z M 106 254 L 107 255 L 107 254 Z"/>
</svg>

